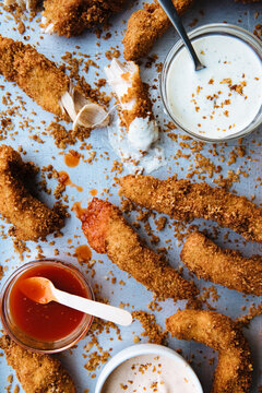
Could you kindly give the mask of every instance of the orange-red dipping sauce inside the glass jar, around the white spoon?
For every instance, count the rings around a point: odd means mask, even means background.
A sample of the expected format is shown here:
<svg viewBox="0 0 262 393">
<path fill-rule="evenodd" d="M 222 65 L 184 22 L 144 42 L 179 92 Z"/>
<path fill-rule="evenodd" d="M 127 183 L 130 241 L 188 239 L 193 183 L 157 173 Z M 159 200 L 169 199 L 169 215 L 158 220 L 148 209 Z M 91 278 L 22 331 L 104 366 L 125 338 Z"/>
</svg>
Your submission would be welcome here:
<svg viewBox="0 0 262 393">
<path fill-rule="evenodd" d="M 27 336 L 41 342 L 53 342 L 67 337 L 83 323 L 84 313 L 51 301 L 47 305 L 28 299 L 20 289 L 28 277 L 49 278 L 56 288 L 73 295 L 92 298 L 92 294 L 73 270 L 48 261 L 25 271 L 12 286 L 9 296 L 10 314 L 15 325 Z"/>
</svg>

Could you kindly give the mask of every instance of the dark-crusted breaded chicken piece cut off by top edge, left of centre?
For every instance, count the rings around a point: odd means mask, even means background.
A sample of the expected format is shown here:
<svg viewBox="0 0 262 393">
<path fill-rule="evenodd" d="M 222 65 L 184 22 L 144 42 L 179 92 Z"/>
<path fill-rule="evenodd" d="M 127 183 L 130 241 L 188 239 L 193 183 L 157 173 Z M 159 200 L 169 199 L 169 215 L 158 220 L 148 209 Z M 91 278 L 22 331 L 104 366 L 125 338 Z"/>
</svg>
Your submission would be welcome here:
<svg viewBox="0 0 262 393">
<path fill-rule="evenodd" d="M 52 23 L 52 31 L 72 37 L 98 24 L 122 10 L 126 0 L 45 0 L 43 15 Z"/>
</svg>

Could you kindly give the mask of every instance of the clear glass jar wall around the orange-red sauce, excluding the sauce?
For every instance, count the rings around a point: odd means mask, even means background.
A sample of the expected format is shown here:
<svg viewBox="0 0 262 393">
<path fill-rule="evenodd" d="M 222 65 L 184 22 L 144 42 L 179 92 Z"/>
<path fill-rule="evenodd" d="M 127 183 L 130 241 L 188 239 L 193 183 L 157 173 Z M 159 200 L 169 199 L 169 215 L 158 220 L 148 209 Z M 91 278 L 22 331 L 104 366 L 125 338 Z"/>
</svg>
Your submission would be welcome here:
<svg viewBox="0 0 262 393">
<path fill-rule="evenodd" d="M 62 338 L 55 340 L 55 341 L 40 341 L 36 340 L 24 331 L 22 331 L 14 321 L 12 315 L 12 310 L 10 308 L 10 294 L 16 281 L 23 275 L 29 273 L 29 270 L 38 267 L 38 266 L 56 266 L 66 270 L 68 273 L 73 275 L 76 281 L 80 282 L 81 286 L 84 288 L 86 293 L 86 297 L 88 299 L 94 299 L 93 290 L 85 279 L 83 274 L 72 264 L 66 263 L 55 259 L 41 259 L 28 262 L 17 269 L 13 274 L 7 279 L 1 290 L 1 321 L 3 327 L 8 335 L 16 342 L 19 345 L 23 346 L 26 349 L 39 352 L 39 353 L 59 353 L 61 350 L 68 349 L 72 347 L 74 344 L 79 342 L 88 331 L 93 317 L 88 314 L 84 314 L 81 319 L 80 323 L 68 335 L 63 336 Z"/>
</svg>

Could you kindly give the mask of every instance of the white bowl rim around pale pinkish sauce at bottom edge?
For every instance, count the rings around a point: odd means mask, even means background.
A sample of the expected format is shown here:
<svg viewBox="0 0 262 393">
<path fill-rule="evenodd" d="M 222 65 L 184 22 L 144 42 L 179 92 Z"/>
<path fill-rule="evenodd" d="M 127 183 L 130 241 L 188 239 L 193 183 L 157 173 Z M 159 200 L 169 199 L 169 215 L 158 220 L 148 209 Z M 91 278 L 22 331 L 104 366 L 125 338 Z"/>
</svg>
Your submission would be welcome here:
<svg viewBox="0 0 262 393">
<path fill-rule="evenodd" d="M 115 355 L 104 367 L 102 370 L 102 373 L 98 378 L 95 393 L 102 393 L 103 386 L 108 379 L 108 377 L 111 374 L 111 372 L 123 361 L 131 359 L 135 356 L 140 355 L 158 355 L 166 358 L 170 358 L 171 360 L 179 362 L 180 365 L 184 365 L 188 367 L 191 381 L 194 383 L 196 390 L 195 393 L 203 393 L 203 389 L 201 386 L 201 383 L 194 373 L 193 369 L 190 367 L 190 365 L 184 360 L 182 356 L 180 356 L 175 350 L 167 348 L 162 345 L 156 344 L 136 344 L 132 345 L 123 350 L 120 350 L 117 355 Z M 174 370 L 175 372 L 176 370 Z"/>
</svg>

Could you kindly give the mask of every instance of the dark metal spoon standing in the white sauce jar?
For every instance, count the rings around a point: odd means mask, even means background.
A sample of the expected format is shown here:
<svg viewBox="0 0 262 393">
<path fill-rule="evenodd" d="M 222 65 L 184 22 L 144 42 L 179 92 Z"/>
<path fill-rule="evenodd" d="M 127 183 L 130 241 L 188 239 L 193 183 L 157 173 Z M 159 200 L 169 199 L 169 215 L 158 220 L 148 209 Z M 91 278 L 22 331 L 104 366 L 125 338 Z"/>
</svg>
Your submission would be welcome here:
<svg viewBox="0 0 262 393">
<path fill-rule="evenodd" d="M 189 50 L 191 58 L 194 62 L 194 69 L 195 71 L 200 71 L 203 70 L 205 68 L 205 66 L 203 66 L 200 61 L 200 59 L 198 58 L 198 55 L 194 51 L 194 48 L 186 33 L 186 29 L 182 25 L 182 22 L 177 13 L 177 10 L 172 3 L 171 0 L 158 0 L 158 3 L 160 4 L 160 7 L 163 8 L 163 10 L 165 11 L 165 13 L 167 14 L 167 16 L 169 17 L 171 24 L 174 25 L 174 27 L 177 29 L 178 34 L 180 35 L 180 37 L 183 40 L 184 46 L 187 47 L 187 49 Z"/>
</svg>

